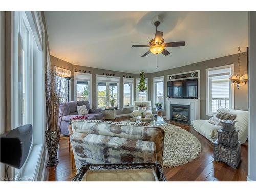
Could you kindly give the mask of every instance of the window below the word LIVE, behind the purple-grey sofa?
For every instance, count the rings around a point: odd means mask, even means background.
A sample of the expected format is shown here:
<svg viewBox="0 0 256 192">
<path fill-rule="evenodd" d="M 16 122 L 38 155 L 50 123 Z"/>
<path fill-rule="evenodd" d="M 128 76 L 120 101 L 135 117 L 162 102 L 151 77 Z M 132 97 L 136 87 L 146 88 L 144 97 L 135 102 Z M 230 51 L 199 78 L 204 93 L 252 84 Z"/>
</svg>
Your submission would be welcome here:
<svg viewBox="0 0 256 192">
<path fill-rule="evenodd" d="M 91 103 L 92 74 L 74 72 L 74 100 Z"/>
</svg>

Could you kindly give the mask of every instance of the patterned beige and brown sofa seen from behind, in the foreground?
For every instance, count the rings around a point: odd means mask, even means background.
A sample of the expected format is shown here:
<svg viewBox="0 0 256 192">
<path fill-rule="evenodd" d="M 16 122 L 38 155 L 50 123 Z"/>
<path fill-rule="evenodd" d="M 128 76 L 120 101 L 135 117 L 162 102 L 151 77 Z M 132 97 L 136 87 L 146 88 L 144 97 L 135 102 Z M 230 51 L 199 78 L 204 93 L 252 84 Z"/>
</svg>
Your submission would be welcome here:
<svg viewBox="0 0 256 192">
<path fill-rule="evenodd" d="M 162 162 L 164 131 L 149 123 L 71 121 L 76 168 L 83 163 Z"/>
</svg>

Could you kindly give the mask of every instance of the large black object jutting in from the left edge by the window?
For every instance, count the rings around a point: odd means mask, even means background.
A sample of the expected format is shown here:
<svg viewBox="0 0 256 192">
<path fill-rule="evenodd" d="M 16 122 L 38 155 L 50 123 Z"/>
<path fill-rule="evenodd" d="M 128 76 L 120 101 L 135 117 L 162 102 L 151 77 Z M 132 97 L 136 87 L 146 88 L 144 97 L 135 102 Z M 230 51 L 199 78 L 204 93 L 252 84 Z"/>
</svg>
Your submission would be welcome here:
<svg viewBox="0 0 256 192">
<path fill-rule="evenodd" d="M 31 124 L 17 127 L 1 135 L 1 163 L 20 169 L 28 157 L 32 135 Z"/>
</svg>

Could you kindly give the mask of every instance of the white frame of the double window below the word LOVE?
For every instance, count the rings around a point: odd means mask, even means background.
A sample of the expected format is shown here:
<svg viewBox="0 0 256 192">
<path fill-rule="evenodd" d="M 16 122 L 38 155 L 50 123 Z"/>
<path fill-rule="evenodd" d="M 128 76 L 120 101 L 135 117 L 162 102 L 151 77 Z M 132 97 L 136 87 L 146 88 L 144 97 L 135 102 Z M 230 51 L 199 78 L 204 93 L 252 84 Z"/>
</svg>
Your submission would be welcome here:
<svg viewBox="0 0 256 192">
<path fill-rule="evenodd" d="M 109 92 L 109 86 L 108 84 L 111 81 L 103 81 L 103 80 L 98 80 L 98 77 L 102 77 L 102 78 L 114 78 L 117 79 L 118 81 L 112 81 L 113 83 L 117 83 L 117 105 L 118 105 L 118 109 L 120 109 L 120 77 L 116 77 L 116 76 L 107 76 L 107 75 L 95 75 L 95 107 L 96 108 L 100 108 L 98 107 L 98 82 L 106 82 L 106 96 L 108 96 L 108 92 Z M 107 100 L 107 106 L 108 106 L 108 100 Z M 105 109 L 105 107 L 101 107 L 101 109 Z"/>
</svg>

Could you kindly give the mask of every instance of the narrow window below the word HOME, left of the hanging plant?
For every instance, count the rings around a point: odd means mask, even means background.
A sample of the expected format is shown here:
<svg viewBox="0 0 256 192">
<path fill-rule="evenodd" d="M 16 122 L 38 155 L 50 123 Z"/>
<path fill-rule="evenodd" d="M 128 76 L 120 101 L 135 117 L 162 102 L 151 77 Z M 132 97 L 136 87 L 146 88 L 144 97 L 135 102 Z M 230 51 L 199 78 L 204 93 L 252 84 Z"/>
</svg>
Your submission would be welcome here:
<svg viewBox="0 0 256 192">
<path fill-rule="evenodd" d="M 133 106 L 133 78 L 123 78 L 123 107 Z"/>
</svg>

